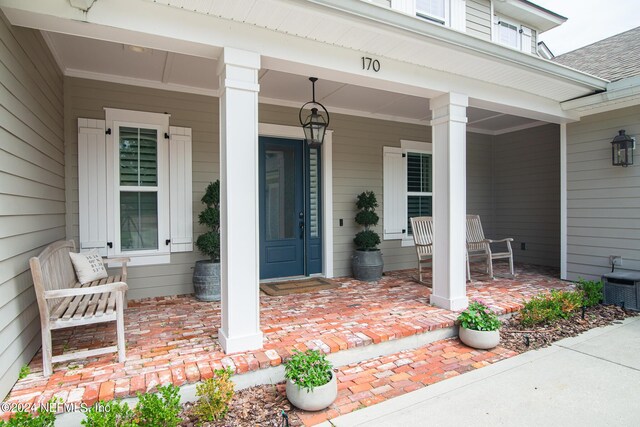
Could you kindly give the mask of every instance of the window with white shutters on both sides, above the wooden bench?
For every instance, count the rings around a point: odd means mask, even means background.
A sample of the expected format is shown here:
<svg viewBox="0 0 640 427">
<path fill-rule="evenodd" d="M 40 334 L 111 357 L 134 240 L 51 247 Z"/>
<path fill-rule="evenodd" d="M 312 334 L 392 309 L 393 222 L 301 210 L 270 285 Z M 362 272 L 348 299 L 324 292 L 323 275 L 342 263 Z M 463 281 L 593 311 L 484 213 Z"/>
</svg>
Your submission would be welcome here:
<svg viewBox="0 0 640 427">
<path fill-rule="evenodd" d="M 78 119 L 80 249 L 170 262 L 193 250 L 191 129 L 169 115 L 105 108 Z"/>
</svg>

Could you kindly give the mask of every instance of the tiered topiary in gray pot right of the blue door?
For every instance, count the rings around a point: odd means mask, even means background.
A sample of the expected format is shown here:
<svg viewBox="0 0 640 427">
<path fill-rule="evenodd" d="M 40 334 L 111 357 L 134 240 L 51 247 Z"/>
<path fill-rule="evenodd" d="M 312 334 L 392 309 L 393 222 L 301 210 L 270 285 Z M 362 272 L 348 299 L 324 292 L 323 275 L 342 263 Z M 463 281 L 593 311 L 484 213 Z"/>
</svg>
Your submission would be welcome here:
<svg viewBox="0 0 640 427">
<path fill-rule="evenodd" d="M 372 282 L 382 277 L 384 267 L 382 254 L 378 249 L 380 236 L 371 227 L 378 224 L 378 214 L 375 209 L 378 207 L 378 200 L 373 191 L 364 191 L 358 195 L 356 201 L 358 213 L 356 222 L 364 227 L 358 232 L 353 242 L 356 244 L 356 251 L 352 257 L 351 266 L 353 276 L 358 280 Z"/>
</svg>

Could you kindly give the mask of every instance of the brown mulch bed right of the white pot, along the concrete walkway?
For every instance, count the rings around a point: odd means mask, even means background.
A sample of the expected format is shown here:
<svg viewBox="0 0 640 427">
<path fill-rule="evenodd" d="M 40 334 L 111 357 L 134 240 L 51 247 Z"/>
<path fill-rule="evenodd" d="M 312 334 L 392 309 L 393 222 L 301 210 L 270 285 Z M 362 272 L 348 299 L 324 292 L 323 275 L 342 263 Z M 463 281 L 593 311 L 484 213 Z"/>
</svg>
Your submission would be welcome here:
<svg viewBox="0 0 640 427">
<path fill-rule="evenodd" d="M 585 310 L 584 319 L 578 312 L 568 319 L 560 319 L 552 325 L 524 327 L 518 314 L 502 323 L 500 347 L 518 353 L 551 345 L 554 341 L 574 337 L 589 329 L 620 323 L 627 317 L 637 316 L 634 311 L 615 305 L 597 305 Z"/>
</svg>

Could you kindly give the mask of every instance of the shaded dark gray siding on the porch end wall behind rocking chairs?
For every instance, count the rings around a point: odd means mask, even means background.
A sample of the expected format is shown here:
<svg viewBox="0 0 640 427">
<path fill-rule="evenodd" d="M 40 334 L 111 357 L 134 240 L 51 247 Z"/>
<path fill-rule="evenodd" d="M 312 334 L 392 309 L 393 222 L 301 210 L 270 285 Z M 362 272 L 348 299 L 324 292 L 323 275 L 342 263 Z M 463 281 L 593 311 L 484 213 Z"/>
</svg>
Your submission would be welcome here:
<svg viewBox="0 0 640 427">
<path fill-rule="evenodd" d="M 559 127 L 545 125 L 496 136 L 493 171 L 492 237 L 515 239 L 516 262 L 559 267 Z M 526 250 L 520 249 L 523 242 Z"/>
</svg>

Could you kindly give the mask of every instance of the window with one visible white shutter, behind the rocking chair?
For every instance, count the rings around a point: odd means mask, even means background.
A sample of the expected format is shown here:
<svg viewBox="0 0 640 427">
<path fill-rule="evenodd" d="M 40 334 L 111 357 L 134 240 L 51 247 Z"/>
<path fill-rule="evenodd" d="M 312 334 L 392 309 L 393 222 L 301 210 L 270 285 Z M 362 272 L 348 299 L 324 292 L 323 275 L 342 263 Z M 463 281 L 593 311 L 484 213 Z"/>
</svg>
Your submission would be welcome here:
<svg viewBox="0 0 640 427">
<path fill-rule="evenodd" d="M 384 147 L 383 180 L 383 237 L 412 244 L 409 218 L 432 215 L 431 144 L 401 141 L 401 147 Z"/>
</svg>

